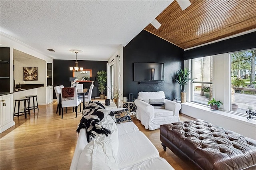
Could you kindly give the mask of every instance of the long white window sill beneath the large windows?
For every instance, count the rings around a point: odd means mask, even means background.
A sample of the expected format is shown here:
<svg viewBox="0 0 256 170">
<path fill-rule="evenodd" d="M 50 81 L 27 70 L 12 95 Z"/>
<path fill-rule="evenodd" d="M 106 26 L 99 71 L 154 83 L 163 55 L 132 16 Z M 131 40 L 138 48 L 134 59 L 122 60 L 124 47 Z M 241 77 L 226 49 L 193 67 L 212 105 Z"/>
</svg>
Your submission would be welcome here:
<svg viewBox="0 0 256 170">
<path fill-rule="evenodd" d="M 239 121 L 242 122 L 244 124 L 248 124 L 251 126 L 256 127 L 256 117 L 253 117 L 253 119 L 248 120 L 247 117 L 242 116 L 242 115 L 236 115 L 234 113 L 230 113 L 227 111 L 222 111 L 222 110 L 218 110 L 218 111 L 213 111 L 210 109 L 210 106 L 206 106 L 206 105 L 201 105 L 198 103 L 192 103 L 192 102 L 186 102 L 186 103 L 180 103 L 181 105 L 186 105 L 189 107 L 194 107 L 196 109 L 200 109 L 204 112 L 207 112 L 209 114 L 217 114 L 220 115 L 221 117 L 228 117 L 228 119 L 234 119 L 235 121 Z M 186 113 L 184 113 L 186 115 Z M 197 119 L 197 118 L 196 118 Z"/>
</svg>

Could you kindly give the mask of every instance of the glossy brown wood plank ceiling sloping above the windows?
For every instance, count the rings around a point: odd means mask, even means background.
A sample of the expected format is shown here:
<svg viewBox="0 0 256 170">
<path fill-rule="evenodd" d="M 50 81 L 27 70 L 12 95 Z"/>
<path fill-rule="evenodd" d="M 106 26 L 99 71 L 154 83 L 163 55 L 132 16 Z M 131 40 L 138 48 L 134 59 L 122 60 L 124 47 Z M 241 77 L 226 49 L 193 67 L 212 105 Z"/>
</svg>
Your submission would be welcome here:
<svg viewBox="0 0 256 170">
<path fill-rule="evenodd" d="M 172 2 L 144 30 L 183 49 L 256 28 L 256 0 L 190 0 L 184 11 Z"/>
</svg>

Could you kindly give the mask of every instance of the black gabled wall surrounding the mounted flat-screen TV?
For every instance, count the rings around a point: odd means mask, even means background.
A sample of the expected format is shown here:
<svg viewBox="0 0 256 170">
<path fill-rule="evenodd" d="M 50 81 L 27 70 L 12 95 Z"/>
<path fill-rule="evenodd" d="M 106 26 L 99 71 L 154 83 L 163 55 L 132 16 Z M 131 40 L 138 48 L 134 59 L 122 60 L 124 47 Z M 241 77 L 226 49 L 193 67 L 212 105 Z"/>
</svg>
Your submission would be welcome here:
<svg viewBox="0 0 256 170">
<path fill-rule="evenodd" d="M 132 41 L 123 48 L 123 95 L 129 97 L 133 93 L 138 97 L 140 91 L 164 91 L 166 97 L 180 99 L 180 86 L 172 77 L 178 69 L 184 67 L 184 50 L 145 30 L 142 30 Z M 160 84 L 139 84 L 133 81 L 133 63 L 163 62 L 164 81 Z"/>
</svg>

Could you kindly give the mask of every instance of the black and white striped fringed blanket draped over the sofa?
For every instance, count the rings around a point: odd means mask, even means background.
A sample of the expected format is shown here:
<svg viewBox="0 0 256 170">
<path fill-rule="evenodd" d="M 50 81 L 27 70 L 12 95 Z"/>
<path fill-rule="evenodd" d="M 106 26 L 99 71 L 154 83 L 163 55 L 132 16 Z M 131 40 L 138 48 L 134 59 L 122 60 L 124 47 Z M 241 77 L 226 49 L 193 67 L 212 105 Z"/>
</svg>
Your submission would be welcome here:
<svg viewBox="0 0 256 170">
<path fill-rule="evenodd" d="M 115 115 L 112 111 L 106 110 L 100 102 L 89 103 L 83 109 L 83 117 L 80 121 L 76 132 L 80 132 L 81 128 L 85 128 L 87 132 L 87 141 L 89 142 L 89 136 L 95 137 L 97 134 L 105 134 L 108 136 L 110 130 L 102 127 L 101 121 L 104 117 L 110 115 L 116 122 Z"/>
</svg>

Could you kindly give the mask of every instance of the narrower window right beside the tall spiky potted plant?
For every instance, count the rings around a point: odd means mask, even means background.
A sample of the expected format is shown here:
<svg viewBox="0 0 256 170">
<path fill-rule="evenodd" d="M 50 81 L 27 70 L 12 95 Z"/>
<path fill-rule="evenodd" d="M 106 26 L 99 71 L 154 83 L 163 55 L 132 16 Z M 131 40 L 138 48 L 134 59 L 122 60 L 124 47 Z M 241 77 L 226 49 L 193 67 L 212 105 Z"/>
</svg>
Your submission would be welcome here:
<svg viewBox="0 0 256 170">
<path fill-rule="evenodd" d="M 191 101 L 207 105 L 212 99 L 212 56 L 191 60 Z"/>
</svg>

